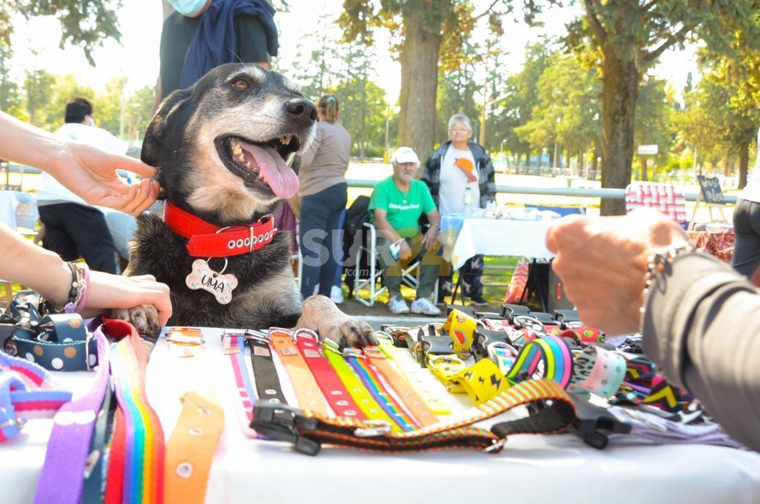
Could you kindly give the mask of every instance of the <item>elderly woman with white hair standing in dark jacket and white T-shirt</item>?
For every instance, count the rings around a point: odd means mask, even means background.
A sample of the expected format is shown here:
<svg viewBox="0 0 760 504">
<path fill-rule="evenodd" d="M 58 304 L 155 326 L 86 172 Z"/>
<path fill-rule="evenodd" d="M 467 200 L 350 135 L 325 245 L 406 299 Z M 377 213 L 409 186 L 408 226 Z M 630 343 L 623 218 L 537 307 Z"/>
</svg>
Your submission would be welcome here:
<svg viewBox="0 0 760 504">
<path fill-rule="evenodd" d="M 430 155 L 422 180 L 430 188 L 435 206 L 441 215 L 464 214 L 464 198 L 470 188 L 473 208 L 485 208 L 496 201 L 493 163 L 486 149 L 470 141 L 473 135 L 470 119 L 454 114 L 448 119 L 448 141 Z M 474 255 L 459 271 L 464 295 L 475 306 L 483 300 L 483 255 Z M 439 281 L 439 300 L 451 296 L 451 276 Z M 453 300 L 452 300 L 453 301 Z"/>
</svg>

